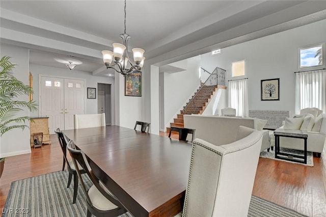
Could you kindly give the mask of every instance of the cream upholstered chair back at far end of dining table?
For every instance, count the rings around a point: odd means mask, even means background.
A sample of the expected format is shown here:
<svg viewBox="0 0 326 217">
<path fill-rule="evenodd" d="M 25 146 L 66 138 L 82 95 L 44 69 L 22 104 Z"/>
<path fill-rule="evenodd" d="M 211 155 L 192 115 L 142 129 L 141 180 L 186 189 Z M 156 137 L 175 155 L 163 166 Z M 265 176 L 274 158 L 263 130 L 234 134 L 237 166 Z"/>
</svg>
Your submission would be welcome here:
<svg viewBox="0 0 326 217">
<path fill-rule="evenodd" d="M 105 113 L 74 115 L 75 129 L 105 126 Z"/>
</svg>

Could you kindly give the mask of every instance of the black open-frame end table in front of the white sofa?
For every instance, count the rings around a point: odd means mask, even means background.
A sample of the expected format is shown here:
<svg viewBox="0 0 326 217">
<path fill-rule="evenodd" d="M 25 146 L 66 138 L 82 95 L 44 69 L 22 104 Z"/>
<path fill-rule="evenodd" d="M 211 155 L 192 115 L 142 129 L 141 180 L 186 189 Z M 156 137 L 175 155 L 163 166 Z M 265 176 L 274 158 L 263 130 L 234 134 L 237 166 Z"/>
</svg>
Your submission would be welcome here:
<svg viewBox="0 0 326 217">
<path fill-rule="evenodd" d="M 301 130 L 276 129 L 274 131 L 274 135 L 275 135 L 275 158 L 307 164 L 307 138 L 308 138 L 307 133 L 304 133 Z M 303 139 L 305 141 L 304 156 L 280 152 L 280 137 Z M 295 158 L 299 158 L 299 159 L 295 159 Z"/>
</svg>

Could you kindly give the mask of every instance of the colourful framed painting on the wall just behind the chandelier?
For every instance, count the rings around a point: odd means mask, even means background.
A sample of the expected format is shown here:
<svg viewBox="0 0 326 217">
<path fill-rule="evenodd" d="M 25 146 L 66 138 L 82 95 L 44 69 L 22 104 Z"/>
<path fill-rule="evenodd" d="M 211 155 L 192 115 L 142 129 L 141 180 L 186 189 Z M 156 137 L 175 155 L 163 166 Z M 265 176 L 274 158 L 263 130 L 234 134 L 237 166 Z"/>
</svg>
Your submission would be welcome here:
<svg viewBox="0 0 326 217">
<path fill-rule="evenodd" d="M 142 73 L 134 72 L 125 76 L 125 96 L 142 96 Z"/>
</svg>

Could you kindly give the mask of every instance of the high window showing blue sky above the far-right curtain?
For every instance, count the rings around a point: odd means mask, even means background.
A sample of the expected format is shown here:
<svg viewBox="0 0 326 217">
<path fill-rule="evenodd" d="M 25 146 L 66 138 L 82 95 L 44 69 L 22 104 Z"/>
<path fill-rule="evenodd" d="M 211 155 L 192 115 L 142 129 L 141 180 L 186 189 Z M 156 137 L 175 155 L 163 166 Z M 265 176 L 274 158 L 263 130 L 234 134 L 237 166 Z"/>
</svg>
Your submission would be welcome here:
<svg viewBox="0 0 326 217">
<path fill-rule="evenodd" d="M 299 69 L 324 66 L 323 44 L 299 48 Z"/>
</svg>

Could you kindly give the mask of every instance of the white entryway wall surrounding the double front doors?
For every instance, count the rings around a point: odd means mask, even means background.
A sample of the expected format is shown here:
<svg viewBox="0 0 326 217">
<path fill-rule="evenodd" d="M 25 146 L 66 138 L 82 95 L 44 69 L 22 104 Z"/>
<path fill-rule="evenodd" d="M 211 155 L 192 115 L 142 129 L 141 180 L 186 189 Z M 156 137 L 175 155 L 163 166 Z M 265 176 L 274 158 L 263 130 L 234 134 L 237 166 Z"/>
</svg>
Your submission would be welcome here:
<svg viewBox="0 0 326 217">
<path fill-rule="evenodd" d="M 70 71 L 69 69 L 31 64 L 30 71 L 33 75 L 33 90 L 34 90 L 33 100 L 35 100 L 37 103 L 39 101 L 39 74 L 46 75 L 49 77 L 59 76 L 59 77 L 85 79 L 85 93 L 84 93 L 85 103 L 86 103 L 85 114 L 97 114 L 97 100 L 87 99 L 87 88 L 96 88 L 96 91 L 98 91 L 97 89 L 98 83 L 111 84 L 114 86 L 114 78 L 92 76 L 89 72 L 78 71 L 76 69 Z M 96 95 L 98 94 L 96 93 Z M 114 94 L 112 94 L 112 97 L 114 97 Z M 115 105 L 113 104 L 112 106 Z M 32 116 L 38 116 L 38 114 L 39 113 L 36 112 L 35 114 L 32 114 Z"/>
</svg>

